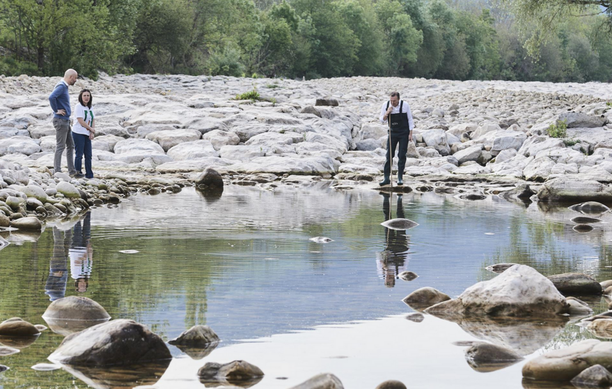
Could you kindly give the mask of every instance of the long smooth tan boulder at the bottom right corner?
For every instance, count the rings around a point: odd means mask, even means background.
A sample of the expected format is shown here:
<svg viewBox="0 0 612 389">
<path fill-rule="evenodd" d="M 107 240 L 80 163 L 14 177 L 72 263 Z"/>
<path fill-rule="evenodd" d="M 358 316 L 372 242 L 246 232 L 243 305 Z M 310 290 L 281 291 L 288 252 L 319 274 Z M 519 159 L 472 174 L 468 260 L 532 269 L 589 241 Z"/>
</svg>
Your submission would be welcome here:
<svg viewBox="0 0 612 389">
<path fill-rule="evenodd" d="M 612 369 L 612 342 L 588 339 L 549 351 L 529 360 L 523 366 L 523 376 L 542 381 L 570 381 L 595 365 Z"/>
</svg>

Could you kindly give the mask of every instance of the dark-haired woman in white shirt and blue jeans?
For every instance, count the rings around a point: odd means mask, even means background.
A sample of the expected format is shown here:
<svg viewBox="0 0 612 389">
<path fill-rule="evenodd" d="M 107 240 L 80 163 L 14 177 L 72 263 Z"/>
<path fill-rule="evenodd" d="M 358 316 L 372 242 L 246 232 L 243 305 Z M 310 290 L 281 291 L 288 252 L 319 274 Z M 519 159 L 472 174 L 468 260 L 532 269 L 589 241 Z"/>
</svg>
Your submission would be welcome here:
<svg viewBox="0 0 612 389">
<path fill-rule="evenodd" d="M 74 139 L 74 169 L 77 170 L 75 178 L 93 178 L 91 170 L 91 139 L 95 134 L 93 109 L 91 109 L 91 91 L 83 89 L 79 93 L 79 102 L 74 106 L 77 123 L 72 125 L 72 139 Z M 81 172 L 81 162 L 85 155 L 85 174 Z"/>
</svg>

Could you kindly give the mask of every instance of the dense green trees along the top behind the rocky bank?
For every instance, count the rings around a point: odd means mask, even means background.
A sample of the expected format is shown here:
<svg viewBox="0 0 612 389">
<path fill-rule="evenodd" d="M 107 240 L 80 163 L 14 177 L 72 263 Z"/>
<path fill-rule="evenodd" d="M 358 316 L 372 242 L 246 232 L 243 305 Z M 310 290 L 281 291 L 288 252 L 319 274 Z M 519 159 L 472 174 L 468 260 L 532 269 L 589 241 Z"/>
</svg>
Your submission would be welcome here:
<svg viewBox="0 0 612 389">
<path fill-rule="evenodd" d="M 610 8 L 572 1 L 0 0 L 0 74 L 612 82 Z"/>
</svg>

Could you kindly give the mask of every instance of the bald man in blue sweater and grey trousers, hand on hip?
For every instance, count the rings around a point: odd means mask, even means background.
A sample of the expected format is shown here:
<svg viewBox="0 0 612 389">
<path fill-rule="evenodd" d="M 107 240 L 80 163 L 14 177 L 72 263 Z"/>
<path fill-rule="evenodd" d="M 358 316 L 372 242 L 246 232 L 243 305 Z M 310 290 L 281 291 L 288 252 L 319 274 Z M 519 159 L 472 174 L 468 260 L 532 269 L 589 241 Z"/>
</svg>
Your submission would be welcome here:
<svg viewBox="0 0 612 389">
<path fill-rule="evenodd" d="M 77 171 L 74 169 L 74 139 L 70 128 L 70 95 L 68 86 L 77 82 L 77 72 L 74 69 L 66 70 L 63 79 L 57 83 L 52 93 L 49 95 L 49 105 L 53 109 L 53 126 L 55 128 L 55 158 L 53 168 L 55 172 L 61 171 L 62 153 L 66 151 L 66 162 L 68 164 L 68 174 L 74 176 Z"/>
</svg>

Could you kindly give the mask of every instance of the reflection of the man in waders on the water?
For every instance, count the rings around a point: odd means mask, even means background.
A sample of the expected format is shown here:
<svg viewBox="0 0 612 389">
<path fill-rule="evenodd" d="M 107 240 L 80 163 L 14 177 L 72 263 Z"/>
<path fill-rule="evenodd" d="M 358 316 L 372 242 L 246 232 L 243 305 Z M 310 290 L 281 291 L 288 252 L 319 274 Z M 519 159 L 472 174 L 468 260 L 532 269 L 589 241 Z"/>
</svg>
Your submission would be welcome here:
<svg viewBox="0 0 612 389">
<path fill-rule="evenodd" d="M 381 193 L 383 197 L 382 211 L 384 221 L 391 219 L 391 194 Z M 402 195 L 398 194 L 398 210 L 395 218 L 405 218 L 402 206 Z M 384 227 L 385 248 L 379 252 L 376 259 L 378 274 L 384 279 L 386 287 L 393 288 L 395 279 L 402 271 L 407 270 L 408 258 L 408 236 L 406 230 L 398 230 Z"/>
</svg>

